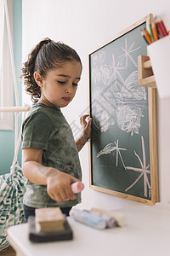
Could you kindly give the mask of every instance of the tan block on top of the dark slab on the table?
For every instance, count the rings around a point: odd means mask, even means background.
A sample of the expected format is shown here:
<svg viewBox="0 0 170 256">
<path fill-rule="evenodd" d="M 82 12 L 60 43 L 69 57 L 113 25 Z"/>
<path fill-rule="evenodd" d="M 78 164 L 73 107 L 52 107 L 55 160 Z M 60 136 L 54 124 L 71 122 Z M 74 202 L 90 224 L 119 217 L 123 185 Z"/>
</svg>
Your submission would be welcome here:
<svg viewBox="0 0 170 256">
<path fill-rule="evenodd" d="M 59 207 L 40 208 L 36 209 L 35 223 L 37 232 L 64 230 L 65 216 Z"/>
</svg>

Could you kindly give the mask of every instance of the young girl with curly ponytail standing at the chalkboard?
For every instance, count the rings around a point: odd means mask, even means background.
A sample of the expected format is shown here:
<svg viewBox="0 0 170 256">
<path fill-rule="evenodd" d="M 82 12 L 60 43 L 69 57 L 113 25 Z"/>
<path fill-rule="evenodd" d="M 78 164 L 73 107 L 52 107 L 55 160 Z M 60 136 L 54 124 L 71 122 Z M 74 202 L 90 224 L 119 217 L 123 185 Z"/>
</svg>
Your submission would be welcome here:
<svg viewBox="0 0 170 256">
<path fill-rule="evenodd" d="M 26 219 L 38 207 L 60 207 L 68 215 L 81 202 L 80 193 L 71 191 L 71 183 L 82 178 L 78 151 L 88 142 L 91 119 L 86 121 L 88 114 L 81 117 L 82 136 L 75 143 L 60 108 L 77 92 L 82 62 L 68 45 L 45 38 L 28 55 L 22 73 L 34 102 L 22 130 Z"/>
</svg>

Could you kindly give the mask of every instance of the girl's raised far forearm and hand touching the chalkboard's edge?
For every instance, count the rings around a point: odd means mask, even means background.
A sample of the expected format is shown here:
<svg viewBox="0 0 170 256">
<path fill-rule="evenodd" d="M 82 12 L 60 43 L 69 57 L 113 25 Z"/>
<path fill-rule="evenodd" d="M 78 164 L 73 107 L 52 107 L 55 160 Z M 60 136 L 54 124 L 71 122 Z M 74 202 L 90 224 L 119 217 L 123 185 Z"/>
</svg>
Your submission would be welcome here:
<svg viewBox="0 0 170 256">
<path fill-rule="evenodd" d="M 88 119 L 86 121 L 88 114 L 82 115 L 80 118 L 80 124 L 82 125 L 82 136 L 79 137 L 76 141 L 78 152 L 82 149 L 82 147 L 88 142 L 88 139 L 91 137 L 91 123 L 92 119 Z"/>
</svg>

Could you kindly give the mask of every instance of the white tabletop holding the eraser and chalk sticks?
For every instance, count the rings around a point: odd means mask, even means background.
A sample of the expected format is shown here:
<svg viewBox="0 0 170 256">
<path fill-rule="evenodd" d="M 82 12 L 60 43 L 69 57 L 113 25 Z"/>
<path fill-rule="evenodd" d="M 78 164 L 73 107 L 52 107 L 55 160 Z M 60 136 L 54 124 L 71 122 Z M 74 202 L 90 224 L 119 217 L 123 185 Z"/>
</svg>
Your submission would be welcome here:
<svg viewBox="0 0 170 256">
<path fill-rule="evenodd" d="M 127 226 L 95 230 L 68 218 L 74 233 L 72 241 L 32 243 L 28 224 L 8 229 L 8 240 L 17 256 L 160 256 L 170 255 L 170 205 L 141 205 L 121 209 Z"/>
</svg>

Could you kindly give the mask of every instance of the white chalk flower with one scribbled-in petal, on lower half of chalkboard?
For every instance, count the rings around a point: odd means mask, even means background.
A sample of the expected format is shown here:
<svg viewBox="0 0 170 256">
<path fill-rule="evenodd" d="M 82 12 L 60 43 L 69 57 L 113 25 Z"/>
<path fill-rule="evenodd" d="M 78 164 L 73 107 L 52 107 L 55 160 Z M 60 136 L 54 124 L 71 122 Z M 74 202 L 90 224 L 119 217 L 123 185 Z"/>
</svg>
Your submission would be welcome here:
<svg viewBox="0 0 170 256">
<path fill-rule="evenodd" d="M 122 160 L 122 154 L 120 152 L 120 150 L 127 150 L 126 148 L 119 148 L 119 141 L 117 139 L 116 142 L 114 142 L 115 145 L 113 143 L 109 143 L 105 146 L 105 148 L 103 148 L 101 151 L 99 151 L 99 153 L 97 154 L 97 157 L 101 156 L 102 154 L 111 154 L 112 151 L 116 150 L 116 166 L 118 166 L 118 158 L 120 156 L 121 160 Z M 126 170 L 126 166 L 124 164 L 124 161 L 122 160 L 122 165 L 124 166 L 125 170 Z"/>
</svg>

